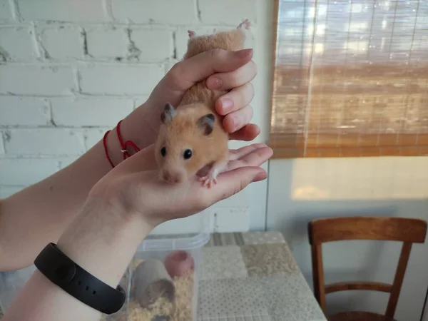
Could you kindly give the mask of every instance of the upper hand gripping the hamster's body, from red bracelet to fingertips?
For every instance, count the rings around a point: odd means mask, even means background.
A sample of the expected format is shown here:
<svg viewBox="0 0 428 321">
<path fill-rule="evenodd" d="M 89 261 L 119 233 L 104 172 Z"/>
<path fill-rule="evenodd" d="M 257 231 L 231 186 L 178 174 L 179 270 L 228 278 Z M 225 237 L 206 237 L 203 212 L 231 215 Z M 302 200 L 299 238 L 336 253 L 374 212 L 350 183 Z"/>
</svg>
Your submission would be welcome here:
<svg viewBox="0 0 428 321">
<path fill-rule="evenodd" d="M 165 103 L 178 106 L 191 86 L 206 79 L 208 88 L 230 91 L 215 103 L 216 111 L 224 116 L 223 126 L 230 133 L 230 139 L 253 141 L 260 128 L 250 123 L 253 117 L 250 102 L 254 96 L 250 81 L 257 74 L 252 57 L 252 49 L 236 52 L 215 49 L 175 63 L 153 88 L 148 100 L 123 119 L 123 139 L 133 141 L 141 149 L 154 143 Z M 120 149 L 115 143 L 117 137 L 112 137 L 112 148 Z M 120 161 L 118 156 L 113 163 Z"/>
</svg>

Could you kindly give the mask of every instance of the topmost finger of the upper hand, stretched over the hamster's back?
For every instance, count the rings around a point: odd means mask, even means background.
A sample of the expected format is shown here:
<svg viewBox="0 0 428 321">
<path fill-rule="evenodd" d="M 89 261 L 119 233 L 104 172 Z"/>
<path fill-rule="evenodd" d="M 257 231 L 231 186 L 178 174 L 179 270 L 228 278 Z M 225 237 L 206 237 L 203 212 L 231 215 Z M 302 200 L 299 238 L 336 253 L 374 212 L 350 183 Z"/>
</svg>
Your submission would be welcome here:
<svg viewBox="0 0 428 321">
<path fill-rule="evenodd" d="M 169 80 L 173 91 L 188 90 L 198 81 L 211 76 L 213 73 L 234 71 L 248 63 L 253 58 L 253 49 L 226 51 L 213 49 L 190 57 L 178 63 L 168 71 L 165 79 Z"/>
</svg>

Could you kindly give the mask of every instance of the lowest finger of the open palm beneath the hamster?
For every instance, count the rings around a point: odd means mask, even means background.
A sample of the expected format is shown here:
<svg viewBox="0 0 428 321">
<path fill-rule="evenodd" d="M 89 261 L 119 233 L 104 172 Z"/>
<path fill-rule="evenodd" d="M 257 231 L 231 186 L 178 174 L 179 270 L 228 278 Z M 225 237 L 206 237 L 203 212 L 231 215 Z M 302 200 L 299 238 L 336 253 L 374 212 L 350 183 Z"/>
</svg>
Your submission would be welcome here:
<svg viewBox="0 0 428 321">
<path fill-rule="evenodd" d="M 217 203 L 225 198 L 239 193 L 250 183 L 264 180 L 267 173 L 260 167 L 240 167 L 218 175 L 218 183 L 211 188 L 205 188 L 210 203 Z"/>
</svg>

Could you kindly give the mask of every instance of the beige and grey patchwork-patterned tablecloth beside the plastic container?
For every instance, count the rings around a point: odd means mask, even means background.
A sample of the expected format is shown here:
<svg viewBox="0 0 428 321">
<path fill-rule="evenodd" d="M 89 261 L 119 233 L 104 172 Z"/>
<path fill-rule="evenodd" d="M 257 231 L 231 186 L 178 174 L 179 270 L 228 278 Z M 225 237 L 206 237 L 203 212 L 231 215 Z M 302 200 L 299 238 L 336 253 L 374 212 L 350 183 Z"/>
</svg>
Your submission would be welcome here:
<svg viewBox="0 0 428 321">
<path fill-rule="evenodd" d="M 213 234 L 203 248 L 198 320 L 326 321 L 278 232 Z"/>
</svg>

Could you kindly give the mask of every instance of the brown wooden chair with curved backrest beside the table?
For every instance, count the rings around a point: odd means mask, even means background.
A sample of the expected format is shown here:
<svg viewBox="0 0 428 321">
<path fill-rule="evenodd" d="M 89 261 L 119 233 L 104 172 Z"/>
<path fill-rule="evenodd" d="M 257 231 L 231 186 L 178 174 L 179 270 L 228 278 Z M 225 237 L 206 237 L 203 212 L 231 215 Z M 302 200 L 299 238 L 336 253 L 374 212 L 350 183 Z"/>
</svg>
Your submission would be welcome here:
<svg viewBox="0 0 428 321">
<path fill-rule="evenodd" d="M 412 243 L 424 243 L 427 222 L 412 218 L 345 217 L 312 220 L 308 225 L 312 253 L 312 277 L 315 297 L 325 313 L 325 295 L 345 290 L 388 292 L 385 315 L 350 311 L 327 316 L 329 321 L 393 321 Z M 322 243 L 338 240 L 393 240 L 403 242 L 392 285 L 382 282 L 338 282 L 324 284 Z"/>
</svg>

